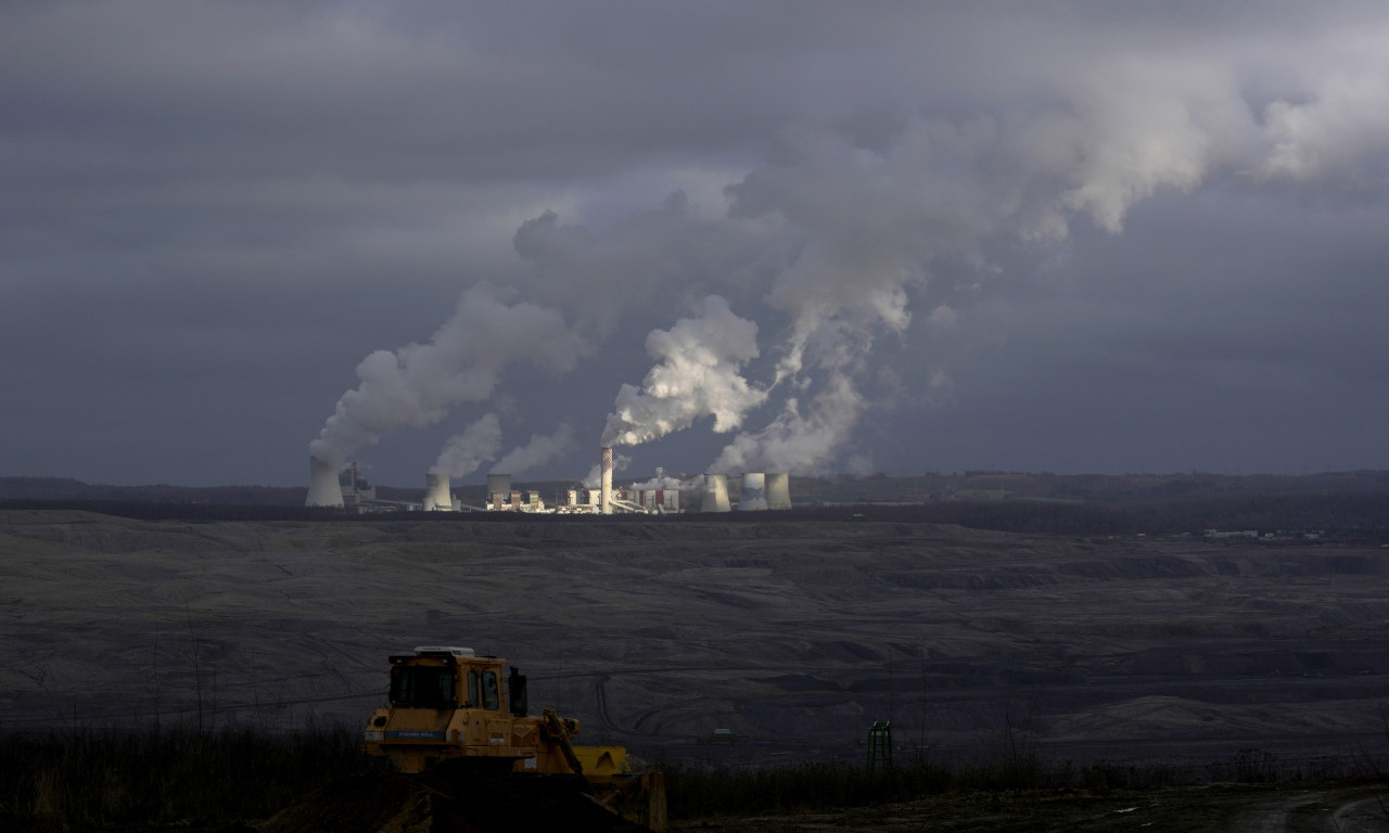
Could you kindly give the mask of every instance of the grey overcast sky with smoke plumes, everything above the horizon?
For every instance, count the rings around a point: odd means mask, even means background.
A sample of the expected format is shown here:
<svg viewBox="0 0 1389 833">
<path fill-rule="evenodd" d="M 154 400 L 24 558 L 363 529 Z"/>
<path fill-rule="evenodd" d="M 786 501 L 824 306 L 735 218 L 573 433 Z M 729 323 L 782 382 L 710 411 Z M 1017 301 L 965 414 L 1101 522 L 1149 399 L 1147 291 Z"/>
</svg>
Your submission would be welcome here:
<svg viewBox="0 0 1389 833">
<path fill-rule="evenodd" d="M 1138 6 L 4 3 L 0 475 L 1389 468 L 1389 11 Z"/>
</svg>

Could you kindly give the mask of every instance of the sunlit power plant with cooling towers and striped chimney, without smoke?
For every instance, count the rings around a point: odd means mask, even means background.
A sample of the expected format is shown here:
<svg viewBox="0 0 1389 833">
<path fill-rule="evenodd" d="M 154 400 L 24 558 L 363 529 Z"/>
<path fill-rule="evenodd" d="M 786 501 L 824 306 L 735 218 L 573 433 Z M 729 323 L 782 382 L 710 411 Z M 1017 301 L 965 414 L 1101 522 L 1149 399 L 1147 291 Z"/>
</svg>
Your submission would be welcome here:
<svg viewBox="0 0 1389 833">
<path fill-rule="evenodd" d="M 661 479 L 661 483 L 669 483 Z M 739 480 L 736 505 L 729 498 L 729 475 L 707 473 L 678 482 L 675 487 L 642 487 L 643 485 L 613 485 L 613 448 L 604 447 L 599 457 L 599 485 L 596 489 L 575 483 L 558 490 L 550 501 L 538 490 L 514 490 L 511 475 L 488 475 L 483 500 L 467 504 L 454 497 L 447 475 L 425 475 L 421 503 L 389 501 L 376 497 L 351 464 L 343 468 L 308 458 L 308 496 L 304 505 L 343 508 L 357 512 L 424 511 L 424 512 L 540 512 L 574 515 L 646 514 L 674 515 L 681 512 L 751 512 L 789 510 L 790 476 L 786 473 L 745 472 Z"/>
</svg>

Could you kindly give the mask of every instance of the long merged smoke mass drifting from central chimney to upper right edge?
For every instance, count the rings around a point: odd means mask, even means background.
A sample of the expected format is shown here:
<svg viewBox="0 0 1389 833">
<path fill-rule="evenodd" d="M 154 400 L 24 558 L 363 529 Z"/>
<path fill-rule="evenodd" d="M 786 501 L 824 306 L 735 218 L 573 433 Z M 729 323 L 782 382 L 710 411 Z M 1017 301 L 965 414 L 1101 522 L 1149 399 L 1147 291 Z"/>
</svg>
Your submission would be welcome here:
<svg viewBox="0 0 1389 833">
<path fill-rule="evenodd" d="M 751 350 L 739 353 L 708 332 L 710 321 L 736 317 L 706 300 L 701 318 L 651 333 L 660 364 L 640 389 L 621 389 L 604 444 L 649 441 L 710 414 L 715 430 L 736 429 L 779 392 L 786 398 L 771 422 L 738 435 L 710 471 L 821 473 L 843 464 L 857 422 L 879 401 L 860 380 L 885 361 L 875 355 L 882 344 L 904 343 L 914 304 L 949 311 L 924 319 L 925 329 L 967 326 L 971 296 L 988 293 L 1003 268 L 1000 253 L 1054 249 L 1075 222 L 1122 233 L 1135 204 L 1213 178 L 1235 187 L 1372 186 L 1357 160 L 1389 147 L 1389 110 L 1372 106 L 1389 100 L 1389 76 L 1354 69 L 1383 64 L 1371 40 L 1347 44 L 1345 61 L 1308 61 L 1288 75 L 1297 81 L 1285 96 L 1250 92 L 1267 76 L 1264 56 L 1125 49 L 1083 65 L 1056 61 L 1032 79 L 1049 90 L 1045 101 L 982 99 L 972 115 L 906 118 L 888 132 L 789 128 L 726 189 L 721 221 L 696 219 L 674 200 L 599 237 L 546 215 L 517 235 L 517 249 L 551 274 L 626 275 L 635 283 L 599 294 L 633 305 L 692 275 L 708 275 L 706 285 L 739 275 L 743 287 L 724 292 L 756 287 L 786 318 L 770 385 L 740 376 L 757 355 L 756 325 L 743 322 Z M 951 297 L 932 286 L 942 269 L 978 285 Z"/>
</svg>

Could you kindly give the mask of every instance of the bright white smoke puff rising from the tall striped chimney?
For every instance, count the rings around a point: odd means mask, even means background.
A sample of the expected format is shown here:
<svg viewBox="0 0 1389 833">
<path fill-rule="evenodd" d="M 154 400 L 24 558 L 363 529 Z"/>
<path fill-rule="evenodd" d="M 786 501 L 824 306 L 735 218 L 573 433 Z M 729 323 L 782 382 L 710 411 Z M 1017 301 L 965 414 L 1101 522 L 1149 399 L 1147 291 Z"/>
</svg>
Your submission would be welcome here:
<svg viewBox="0 0 1389 833">
<path fill-rule="evenodd" d="M 651 330 L 646 351 L 660 364 L 640 390 L 624 385 L 603 432 L 603 446 L 636 446 L 689 428 L 710 415 L 715 432 L 743 423 L 767 400 L 739 369 L 757 358 L 757 325 L 739 318 L 720 296 L 708 296 L 697 318 L 668 330 Z"/>
</svg>

